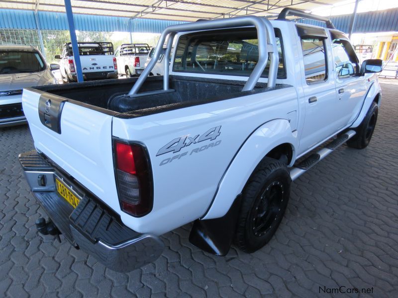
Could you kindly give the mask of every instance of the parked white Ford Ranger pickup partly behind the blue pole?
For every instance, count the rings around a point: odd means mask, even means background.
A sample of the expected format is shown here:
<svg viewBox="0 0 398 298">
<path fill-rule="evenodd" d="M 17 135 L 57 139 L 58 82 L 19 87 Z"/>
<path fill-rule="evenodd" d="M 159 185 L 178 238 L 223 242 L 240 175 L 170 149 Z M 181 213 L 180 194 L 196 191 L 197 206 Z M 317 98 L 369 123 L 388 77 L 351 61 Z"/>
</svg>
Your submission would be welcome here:
<svg viewBox="0 0 398 298">
<path fill-rule="evenodd" d="M 117 78 L 117 63 L 111 42 L 78 42 L 78 47 L 84 80 Z M 62 80 L 65 83 L 77 81 L 72 43 L 66 43 L 62 54 L 56 55 L 55 59 L 61 60 Z"/>
</svg>

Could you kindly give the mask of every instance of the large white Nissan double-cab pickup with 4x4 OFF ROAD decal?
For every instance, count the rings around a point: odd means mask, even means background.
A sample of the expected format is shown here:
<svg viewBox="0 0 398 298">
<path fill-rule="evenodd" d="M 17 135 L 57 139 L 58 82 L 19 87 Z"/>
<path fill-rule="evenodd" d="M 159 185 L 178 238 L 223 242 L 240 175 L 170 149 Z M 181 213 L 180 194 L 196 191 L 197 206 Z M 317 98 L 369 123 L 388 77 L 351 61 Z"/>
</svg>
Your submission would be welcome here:
<svg viewBox="0 0 398 298">
<path fill-rule="evenodd" d="M 207 252 L 261 248 L 291 181 L 346 142 L 365 148 L 381 102 L 381 61 L 359 65 L 344 33 L 298 10 L 170 26 L 165 42 L 138 78 L 23 91 L 39 231 L 116 271 L 156 260 L 159 236 L 191 222 Z"/>
</svg>

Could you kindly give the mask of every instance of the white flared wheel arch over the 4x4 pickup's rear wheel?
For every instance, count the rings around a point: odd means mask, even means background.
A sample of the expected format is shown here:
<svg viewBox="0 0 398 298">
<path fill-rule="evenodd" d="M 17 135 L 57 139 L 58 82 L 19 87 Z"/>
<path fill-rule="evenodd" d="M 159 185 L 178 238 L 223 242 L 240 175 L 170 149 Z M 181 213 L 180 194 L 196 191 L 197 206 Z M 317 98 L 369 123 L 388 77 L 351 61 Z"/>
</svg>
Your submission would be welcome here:
<svg viewBox="0 0 398 298">
<path fill-rule="evenodd" d="M 293 147 L 292 160 L 294 161 L 297 142 L 289 121 L 286 119 L 275 119 L 256 129 L 242 144 L 226 169 L 210 208 L 202 220 L 224 216 L 234 199 L 242 192 L 253 170 L 275 147 L 285 143 L 291 144 Z"/>
</svg>

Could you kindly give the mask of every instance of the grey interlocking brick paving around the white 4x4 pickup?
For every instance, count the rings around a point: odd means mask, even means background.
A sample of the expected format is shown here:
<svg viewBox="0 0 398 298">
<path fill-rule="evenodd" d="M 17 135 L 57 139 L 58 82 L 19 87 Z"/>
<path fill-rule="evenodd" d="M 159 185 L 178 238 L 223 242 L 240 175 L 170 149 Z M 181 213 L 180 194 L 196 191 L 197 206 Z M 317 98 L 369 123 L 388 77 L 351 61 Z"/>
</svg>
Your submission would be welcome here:
<svg viewBox="0 0 398 298">
<path fill-rule="evenodd" d="M 164 235 L 167 248 L 154 264 L 129 274 L 37 234 L 34 222 L 44 213 L 16 158 L 33 149 L 31 136 L 25 126 L 0 129 L 0 293 L 309 298 L 325 296 L 319 287 L 343 286 L 397 297 L 398 85 L 383 84 L 383 92 L 370 146 L 344 146 L 301 176 L 266 247 L 253 254 L 233 247 L 226 257 L 215 257 L 190 245 L 186 225 Z"/>
</svg>

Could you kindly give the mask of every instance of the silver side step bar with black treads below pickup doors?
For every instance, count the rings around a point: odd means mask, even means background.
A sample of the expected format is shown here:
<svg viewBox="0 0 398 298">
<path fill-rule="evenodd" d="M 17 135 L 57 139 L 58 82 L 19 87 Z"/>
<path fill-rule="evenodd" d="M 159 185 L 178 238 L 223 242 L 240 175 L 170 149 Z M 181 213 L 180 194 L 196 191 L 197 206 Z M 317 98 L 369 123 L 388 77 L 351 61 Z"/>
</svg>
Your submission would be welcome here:
<svg viewBox="0 0 398 298">
<path fill-rule="evenodd" d="M 336 139 L 334 139 L 326 147 L 320 149 L 318 152 L 309 155 L 306 159 L 304 159 L 300 163 L 295 164 L 290 170 L 290 177 L 292 178 L 292 181 L 296 180 L 299 176 L 304 174 L 308 169 L 310 169 L 320 160 L 322 160 L 331 152 L 333 152 L 334 149 L 339 148 L 341 145 L 343 145 L 345 142 L 347 142 L 354 136 L 355 136 L 355 131 L 350 130 L 345 134 L 342 134 Z"/>
</svg>

